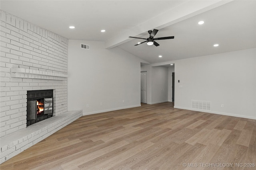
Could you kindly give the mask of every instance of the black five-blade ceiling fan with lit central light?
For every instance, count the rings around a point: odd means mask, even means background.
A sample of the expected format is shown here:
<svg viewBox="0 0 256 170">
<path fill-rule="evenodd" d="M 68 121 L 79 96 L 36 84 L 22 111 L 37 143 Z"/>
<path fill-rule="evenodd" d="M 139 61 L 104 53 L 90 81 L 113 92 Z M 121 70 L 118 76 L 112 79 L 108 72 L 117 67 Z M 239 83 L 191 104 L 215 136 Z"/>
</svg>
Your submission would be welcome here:
<svg viewBox="0 0 256 170">
<path fill-rule="evenodd" d="M 153 31 L 152 30 L 149 30 L 148 33 L 149 33 L 149 37 L 148 38 L 140 38 L 140 37 L 129 37 L 129 38 L 138 38 L 138 39 L 146 39 L 147 41 L 144 41 L 142 43 L 146 43 L 147 42 L 147 45 L 155 45 L 155 46 L 158 46 L 159 44 L 155 41 L 155 40 L 161 40 L 161 39 L 174 39 L 174 36 L 171 36 L 171 37 L 159 37 L 159 38 L 154 38 L 154 36 L 156 35 L 156 33 L 158 32 L 158 29 L 154 29 Z M 142 43 L 138 43 L 136 45 L 140 45 Z M 135 46 L 135 45 L 134 45 Z"/>
</svg>

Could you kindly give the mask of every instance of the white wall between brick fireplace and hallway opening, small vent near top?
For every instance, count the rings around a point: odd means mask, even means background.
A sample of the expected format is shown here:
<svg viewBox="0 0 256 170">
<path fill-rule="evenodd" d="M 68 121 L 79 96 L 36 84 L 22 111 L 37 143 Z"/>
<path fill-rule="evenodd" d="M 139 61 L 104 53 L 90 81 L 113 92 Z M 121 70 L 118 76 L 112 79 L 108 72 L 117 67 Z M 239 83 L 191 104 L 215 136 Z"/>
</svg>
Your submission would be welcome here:
<svg viewBox="0 0 256 170">
<path fill-rule="evenodd" d="M 104 42 L 69 40 L 68 110 L 87 115 L 140 106 L 140 61 L 118 47 L 105 49 Z"/>
</svg>

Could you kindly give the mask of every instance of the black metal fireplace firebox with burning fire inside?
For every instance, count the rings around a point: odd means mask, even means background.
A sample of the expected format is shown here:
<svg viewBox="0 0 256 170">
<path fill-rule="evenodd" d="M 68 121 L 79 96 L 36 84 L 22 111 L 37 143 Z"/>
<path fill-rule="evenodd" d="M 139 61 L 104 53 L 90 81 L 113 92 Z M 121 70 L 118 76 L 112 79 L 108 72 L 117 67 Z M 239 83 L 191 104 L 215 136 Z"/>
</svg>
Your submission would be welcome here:
<svg viewBox="0 0 256 170">
<path fill-rule="evenodd" d="M 27 126 L 48 119 L 53 114 L 53 90 L 32 90 L 27 93 Z"/>
</svg>

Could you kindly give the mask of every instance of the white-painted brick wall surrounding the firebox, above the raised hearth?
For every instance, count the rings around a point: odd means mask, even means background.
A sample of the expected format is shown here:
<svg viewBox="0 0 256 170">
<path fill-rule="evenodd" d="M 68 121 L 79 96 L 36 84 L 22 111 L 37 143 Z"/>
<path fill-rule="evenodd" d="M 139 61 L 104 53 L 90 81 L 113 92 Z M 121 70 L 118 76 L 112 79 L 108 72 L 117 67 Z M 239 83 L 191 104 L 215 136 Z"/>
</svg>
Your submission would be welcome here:
<svg viewBox="0 0 256 170">
<path fill-rule="evenodd" d="M 67 111 L 68 39 L 32 23 L 1 13 L 0 136 L 26 128 L 28 90 L 54 89 L 54 115 Z M 13 68 L 42 75 L 12 73 Z M 36 72 L 36 73 L 38 73 Z M 46 76 L 50 73 L 51 76 Z"/>
</svg>

